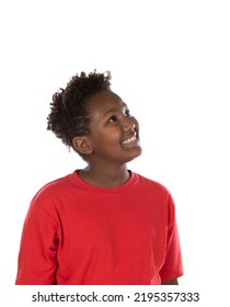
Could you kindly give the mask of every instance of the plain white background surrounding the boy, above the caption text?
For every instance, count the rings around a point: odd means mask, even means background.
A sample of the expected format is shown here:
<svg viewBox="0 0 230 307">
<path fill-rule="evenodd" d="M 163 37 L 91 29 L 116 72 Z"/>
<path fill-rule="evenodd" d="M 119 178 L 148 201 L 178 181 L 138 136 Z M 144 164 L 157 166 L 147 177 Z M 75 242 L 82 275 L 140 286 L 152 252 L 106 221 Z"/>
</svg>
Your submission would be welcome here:
<svg viewBox="0 0 230 307">
<path fill-rule="evenodd" d="M 229 1 L 1 1 L 0 285 L 12 286 L 36 191 L 84 166 L 46 130 L 51 94 L 111 70 L 139 120 L 129 168 L 164 184 L 177 214 L 182 286 L 229 277 Z"/>
</svg>

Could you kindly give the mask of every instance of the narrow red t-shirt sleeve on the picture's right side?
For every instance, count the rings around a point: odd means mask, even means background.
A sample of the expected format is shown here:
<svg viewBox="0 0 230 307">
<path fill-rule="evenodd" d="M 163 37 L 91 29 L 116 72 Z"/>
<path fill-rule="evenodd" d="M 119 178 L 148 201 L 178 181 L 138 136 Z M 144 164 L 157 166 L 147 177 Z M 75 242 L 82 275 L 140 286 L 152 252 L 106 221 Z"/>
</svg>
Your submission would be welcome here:
<svg viewBox="0 0 230 307">
<path fill-rule="evenodd" d="M 172 196 L 168 197 L 168 239 L 164 264 L 160 271 L 161 281 L 171 281 L 183 275 L 182 254 Z"/>
</svg>

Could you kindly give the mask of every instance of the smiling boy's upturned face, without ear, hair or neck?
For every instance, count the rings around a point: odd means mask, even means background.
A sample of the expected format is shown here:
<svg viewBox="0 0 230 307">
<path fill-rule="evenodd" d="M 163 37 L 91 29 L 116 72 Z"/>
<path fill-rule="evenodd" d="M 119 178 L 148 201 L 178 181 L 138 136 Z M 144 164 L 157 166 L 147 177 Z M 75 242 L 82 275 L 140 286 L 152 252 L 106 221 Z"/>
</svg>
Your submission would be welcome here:
<svg viewBox="0 0 230 307">
<path fill-rule="evenodd" d="M 112 91 L 96 93 L 90 99 L 88 110 L 94 160 L 122 164 L 141 154 L 138 122 L 117 94 Z"/>
</svg>

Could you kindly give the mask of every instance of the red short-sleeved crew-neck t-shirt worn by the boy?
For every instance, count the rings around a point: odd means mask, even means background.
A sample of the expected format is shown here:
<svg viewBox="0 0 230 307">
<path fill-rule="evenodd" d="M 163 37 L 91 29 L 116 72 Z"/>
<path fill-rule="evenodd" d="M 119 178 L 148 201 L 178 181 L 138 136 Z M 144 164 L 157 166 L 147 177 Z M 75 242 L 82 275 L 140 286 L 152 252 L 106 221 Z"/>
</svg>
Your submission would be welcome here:
<svg viewBox="0 0 230 307">
<path fill-rule="evenodd" d="M 157 285 L 182 274 L 174 204 L 154 181 L 131 173 L 102 189 L 74 171 L 32 200 L 18 285 Z"/>
</svg>

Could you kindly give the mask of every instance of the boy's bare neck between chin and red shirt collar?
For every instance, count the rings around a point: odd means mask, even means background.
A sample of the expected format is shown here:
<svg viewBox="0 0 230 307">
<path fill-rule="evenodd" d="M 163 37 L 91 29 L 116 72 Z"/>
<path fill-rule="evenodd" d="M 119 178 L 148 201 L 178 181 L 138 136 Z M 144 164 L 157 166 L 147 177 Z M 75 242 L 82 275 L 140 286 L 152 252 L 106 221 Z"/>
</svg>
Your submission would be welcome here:
<svg viewBox="0 0 230 307">
<path fill-rule="evenodd" d="M 116 187 L 124 184 L 129 179 L 129 172 L 126 164 L 123 164 L 122 167 L 88 164 L 85 169 L 79 172 L 79 175 L 85 182 L 104 189 Z"/>
</svg>

